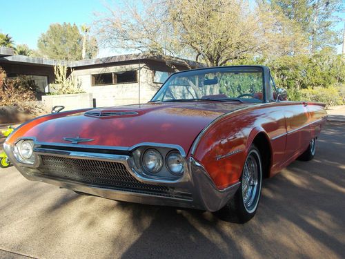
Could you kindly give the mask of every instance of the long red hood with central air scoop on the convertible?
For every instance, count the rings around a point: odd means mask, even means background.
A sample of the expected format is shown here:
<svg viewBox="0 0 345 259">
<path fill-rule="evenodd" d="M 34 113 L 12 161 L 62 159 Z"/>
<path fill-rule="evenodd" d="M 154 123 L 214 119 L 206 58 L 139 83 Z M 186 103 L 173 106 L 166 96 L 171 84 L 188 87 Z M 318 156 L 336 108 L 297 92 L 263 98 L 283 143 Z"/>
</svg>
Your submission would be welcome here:
<svg viewBox="0 0 345 259">
<path fill-rule="evenodd" d="M 23 136 L 63 144 L 70 144 L 64 137 L 81 137 L 92 141 L 80 144 L 100 146 L 177 144 L 188 153 L 197 135 L 213 119 L 244 106 L 248 104 L 188 102 L 95 108 L 49 118 L 32 126 Z"/>
</svg>

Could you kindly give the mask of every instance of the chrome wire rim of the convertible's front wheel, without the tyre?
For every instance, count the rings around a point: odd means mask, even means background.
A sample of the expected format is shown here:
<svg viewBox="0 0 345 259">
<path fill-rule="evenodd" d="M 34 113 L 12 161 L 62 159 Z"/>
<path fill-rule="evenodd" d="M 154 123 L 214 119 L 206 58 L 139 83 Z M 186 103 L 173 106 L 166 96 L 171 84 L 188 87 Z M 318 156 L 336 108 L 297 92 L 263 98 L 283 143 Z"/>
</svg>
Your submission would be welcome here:
<svg viewBox="0 0 345 259">
<path fill-rule="evenodd" d="M 248 213 L 255 211 L 261 192 L 262 167 L 257 151 L 252 150 L 244 163 L 242 199 Z"/>
</svg>

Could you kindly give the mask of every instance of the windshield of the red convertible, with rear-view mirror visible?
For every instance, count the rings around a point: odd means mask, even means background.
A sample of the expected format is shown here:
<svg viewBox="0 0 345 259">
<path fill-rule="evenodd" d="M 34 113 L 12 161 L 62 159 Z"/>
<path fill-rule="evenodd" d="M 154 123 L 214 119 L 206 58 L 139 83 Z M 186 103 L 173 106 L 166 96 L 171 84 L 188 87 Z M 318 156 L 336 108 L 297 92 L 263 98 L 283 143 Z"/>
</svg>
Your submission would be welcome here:
<svg viewBox="0 0 345 259">
<path fill-rule="evenodd" d="M 259 67 L 207 68 L 176 73 L 164 83 L 151 102 L 263 102 L 263 73 Z"/>
</svg>

